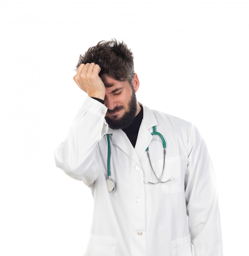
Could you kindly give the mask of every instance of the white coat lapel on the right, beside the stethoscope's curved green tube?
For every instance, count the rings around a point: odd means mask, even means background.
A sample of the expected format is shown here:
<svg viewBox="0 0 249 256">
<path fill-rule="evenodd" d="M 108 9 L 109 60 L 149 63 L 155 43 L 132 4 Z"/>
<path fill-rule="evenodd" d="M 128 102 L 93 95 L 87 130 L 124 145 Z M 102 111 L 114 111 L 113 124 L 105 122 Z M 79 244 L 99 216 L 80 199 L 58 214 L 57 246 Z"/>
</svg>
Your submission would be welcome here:
<svg viewBox="0 0 249 256">
<path fill-rule="evenodd" d="M 139 159 L 151 142 L 151 139 L 152 139 L 151 132 L 153 130 L 152 127 L 158 124 L 153 112 L 145 106 L 142 106 L 142 107 L 144 112 L 143 119 L 140 125 L 140 129 L 138 132 L 138 139 L 135 146 L 135 150 Z"/>
</svg>

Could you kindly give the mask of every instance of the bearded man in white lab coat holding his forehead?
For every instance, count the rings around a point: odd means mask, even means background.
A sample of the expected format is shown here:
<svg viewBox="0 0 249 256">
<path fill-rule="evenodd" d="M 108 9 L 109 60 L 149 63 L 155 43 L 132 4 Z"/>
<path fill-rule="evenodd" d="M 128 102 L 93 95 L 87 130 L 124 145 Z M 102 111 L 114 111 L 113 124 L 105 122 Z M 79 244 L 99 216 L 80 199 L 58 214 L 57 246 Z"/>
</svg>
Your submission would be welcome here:
<svg viewBox="0 0 249 256">
<path fill-rule="evenodd" d="M 216 181 L 195 126 L 138 103 L 124 43 L 101 41 L 77 69 L 89 97 L 55 159 L 93 194 L 85 255 L 191 256 L 192 243 L 196 256 L 222 256 Z"/>
</svg>

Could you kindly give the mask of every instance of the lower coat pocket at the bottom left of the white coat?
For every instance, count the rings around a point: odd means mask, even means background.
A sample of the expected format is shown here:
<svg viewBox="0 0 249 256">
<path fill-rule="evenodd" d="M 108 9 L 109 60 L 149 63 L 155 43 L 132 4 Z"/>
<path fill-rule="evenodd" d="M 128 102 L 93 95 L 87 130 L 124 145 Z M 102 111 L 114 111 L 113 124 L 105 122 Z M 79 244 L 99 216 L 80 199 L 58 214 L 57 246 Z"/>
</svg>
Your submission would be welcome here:
<svg viewBox="0 0 249 256">
<path fill-rule="evenodd" d="M 114 256 L 117 238 L 90 235 L 84 256 Z"/>
</svg>

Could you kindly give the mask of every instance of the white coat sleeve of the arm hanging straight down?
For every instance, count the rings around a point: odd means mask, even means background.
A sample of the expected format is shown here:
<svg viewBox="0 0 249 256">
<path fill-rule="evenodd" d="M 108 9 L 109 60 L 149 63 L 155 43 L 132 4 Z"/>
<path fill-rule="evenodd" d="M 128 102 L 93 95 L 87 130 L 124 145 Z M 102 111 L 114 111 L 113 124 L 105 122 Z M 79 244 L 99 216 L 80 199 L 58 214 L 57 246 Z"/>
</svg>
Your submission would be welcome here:
<svg viewBox="0 0 249 256">
<path fill-rule="evenodd" d="M 193 125 L 188 150 L 185 195 L 195 256 L 222 256 L 216 179 L 207 146 Z"/>
</svg>

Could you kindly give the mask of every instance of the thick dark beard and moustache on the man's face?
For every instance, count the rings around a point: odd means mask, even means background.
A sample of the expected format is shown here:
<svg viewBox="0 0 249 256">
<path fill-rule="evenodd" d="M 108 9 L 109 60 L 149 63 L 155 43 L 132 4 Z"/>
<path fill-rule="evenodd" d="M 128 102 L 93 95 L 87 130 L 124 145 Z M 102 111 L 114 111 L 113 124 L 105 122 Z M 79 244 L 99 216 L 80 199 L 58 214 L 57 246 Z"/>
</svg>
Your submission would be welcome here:
<svg viewBox="0 0 249 256">
<path fill-rule="evenodd" d="M 111 129 L 113 130 L 124 129 L 129 127 L 133 123 L 134 118 L 136 116 L 136 112 L 137 112 L 137 99 L 136 99 L 136 93 L 134 89 L 132 90 L 131 100 L 129 101 L 128 106 L 129 106 L 128 111 L 126 111 L 124 115 L 120 118 L 115 118 L 115 116 L 113 118 L 105 117 L 105 120 L 107 121 L 107 124 Z M 107 110 L 107 112 L 109 113 L 116 112 L 123 108 L 124 108 L 123 106 L 117 106 L 113 110 Z"/>
</svg>

